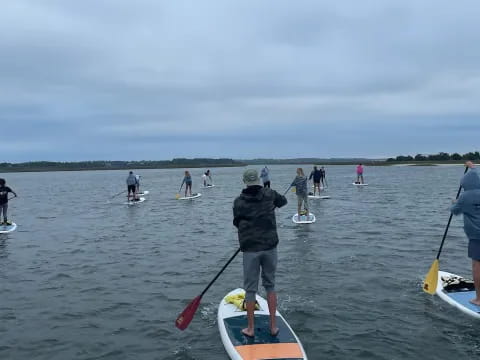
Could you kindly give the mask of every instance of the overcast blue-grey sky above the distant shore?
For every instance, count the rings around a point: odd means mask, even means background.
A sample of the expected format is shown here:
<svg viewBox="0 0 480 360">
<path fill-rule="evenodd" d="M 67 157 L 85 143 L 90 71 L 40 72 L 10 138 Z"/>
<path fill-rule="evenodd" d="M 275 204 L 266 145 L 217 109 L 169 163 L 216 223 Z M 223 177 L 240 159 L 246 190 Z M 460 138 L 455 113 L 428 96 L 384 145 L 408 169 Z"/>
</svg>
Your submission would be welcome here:
<svg viewBox="0 0 480 360">
<path fill-rule="evenodd" d="M 12 0 L 0 162 L 478 150 L 478 1 Z"/>
</svg>

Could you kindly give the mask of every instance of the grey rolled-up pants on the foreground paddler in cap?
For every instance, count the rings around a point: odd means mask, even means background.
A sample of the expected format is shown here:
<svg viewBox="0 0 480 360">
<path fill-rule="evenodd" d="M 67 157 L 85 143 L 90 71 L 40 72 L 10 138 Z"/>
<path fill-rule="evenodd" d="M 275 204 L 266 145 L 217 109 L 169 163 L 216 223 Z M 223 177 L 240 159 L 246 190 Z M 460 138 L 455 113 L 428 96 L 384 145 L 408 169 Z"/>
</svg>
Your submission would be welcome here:
<svg viewBox="0 0 480 360">
<path fill-rule="evenodd" d="M 277 248 L 243 253 L 243 288 L 245 301 L 255 301 L 258 281 L 262 269 L 262 285 L 267 293 L 275 291 L 275 271 L 277 269 Z"/>
</svg>

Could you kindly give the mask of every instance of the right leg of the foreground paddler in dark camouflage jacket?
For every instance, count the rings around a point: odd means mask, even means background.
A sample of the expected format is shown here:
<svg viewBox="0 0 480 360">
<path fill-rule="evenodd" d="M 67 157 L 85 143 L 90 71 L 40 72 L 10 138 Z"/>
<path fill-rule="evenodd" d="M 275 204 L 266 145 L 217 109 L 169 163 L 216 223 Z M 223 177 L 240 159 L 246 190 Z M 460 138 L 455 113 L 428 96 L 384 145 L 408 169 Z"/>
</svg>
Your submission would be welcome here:
<svg viewBox="0 0 480 360">
<path fill-rule="evenodd" d="M 276 336 L 277 328 L 277 294 L 275 292 L 275 272 L 277 270 L 277 248 L 263 251 L 261 258 L 262 285 L 267 292 L 268 312 L 270 313 L 270 334 Z"/>
</svg>

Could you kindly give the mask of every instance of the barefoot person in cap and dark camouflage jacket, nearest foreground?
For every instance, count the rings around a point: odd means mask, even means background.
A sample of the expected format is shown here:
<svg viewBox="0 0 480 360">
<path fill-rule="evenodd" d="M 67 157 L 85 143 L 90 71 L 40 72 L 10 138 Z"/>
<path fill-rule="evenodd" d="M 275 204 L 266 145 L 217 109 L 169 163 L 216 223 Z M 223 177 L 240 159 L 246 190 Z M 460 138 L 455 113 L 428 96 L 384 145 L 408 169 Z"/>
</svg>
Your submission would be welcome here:
<svg viewBox="0 0 480 360">
<path fill-rule="evenodd" d="M 233 225 L 238 228 L 240 250 L 243 252 L 243 287 L 248 318 L 248 326 L 242 333 L 248 337 L 255 335 L 255 294 L 261 269 L 262 285 L 267 292 L 270 312 L 270 333 L 276 336 L 275 271 L 278 234 L 275 208 L 284 206 L 287 199 L 275 190 L 260 186 L 258 172 L 254 169 L 243 173 L 243 182 L 247 187 L 233 203 Z"/>
</svg>

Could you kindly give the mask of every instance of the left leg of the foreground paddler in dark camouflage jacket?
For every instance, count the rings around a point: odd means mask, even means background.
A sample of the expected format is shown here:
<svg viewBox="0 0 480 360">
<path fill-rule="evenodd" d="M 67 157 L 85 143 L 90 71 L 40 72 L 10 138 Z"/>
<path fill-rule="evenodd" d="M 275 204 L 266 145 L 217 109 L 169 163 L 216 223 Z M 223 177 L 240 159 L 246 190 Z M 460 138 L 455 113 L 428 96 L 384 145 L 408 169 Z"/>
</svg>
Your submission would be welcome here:
<svg viewBox="0 0 480 360">
<path fill-rule="evenodd" d="M 243 288 L 245 290 L 245 307 L 247 309 L 247 327 L 242 330 L 246 336 L 255 335 L 255 300 L 260 274 L 260 257 L 258 252 L 243 253 Z"/>
</svg>

